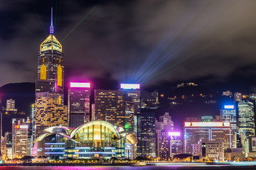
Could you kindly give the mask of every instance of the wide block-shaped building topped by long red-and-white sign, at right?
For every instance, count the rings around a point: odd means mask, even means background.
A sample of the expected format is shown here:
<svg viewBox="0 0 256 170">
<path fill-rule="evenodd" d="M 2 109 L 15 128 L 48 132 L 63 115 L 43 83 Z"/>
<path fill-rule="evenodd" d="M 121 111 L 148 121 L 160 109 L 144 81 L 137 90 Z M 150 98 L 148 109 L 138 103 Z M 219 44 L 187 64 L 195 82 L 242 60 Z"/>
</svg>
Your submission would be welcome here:
<svg viewBox="0 0 256 170">
<path fill-rule="evenodd" d="M 193 144 L 199 140 L 221 140 L 224 149 L 231 148 L 230 123 L 223 122 L 185 122 L 184 153 L 193 153 Z"/>
</svg>

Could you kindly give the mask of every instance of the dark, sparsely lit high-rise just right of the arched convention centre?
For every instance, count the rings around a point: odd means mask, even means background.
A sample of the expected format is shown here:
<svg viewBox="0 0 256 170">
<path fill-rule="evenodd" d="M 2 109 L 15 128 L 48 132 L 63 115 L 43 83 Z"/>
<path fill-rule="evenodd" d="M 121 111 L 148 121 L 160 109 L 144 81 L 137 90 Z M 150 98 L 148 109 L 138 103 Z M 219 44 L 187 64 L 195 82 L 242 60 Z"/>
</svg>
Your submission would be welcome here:
<svg viewBox="0 0 256 170">
<path fill-rule="evenodd" d="M 139 141 L 139 147 L 142 154 L 146 157 L 156 157 L 156 129 L 155 129 L 155 118 L 156 113 L 141 113 L 142 114 L 142 140 Z"/>
</svg>

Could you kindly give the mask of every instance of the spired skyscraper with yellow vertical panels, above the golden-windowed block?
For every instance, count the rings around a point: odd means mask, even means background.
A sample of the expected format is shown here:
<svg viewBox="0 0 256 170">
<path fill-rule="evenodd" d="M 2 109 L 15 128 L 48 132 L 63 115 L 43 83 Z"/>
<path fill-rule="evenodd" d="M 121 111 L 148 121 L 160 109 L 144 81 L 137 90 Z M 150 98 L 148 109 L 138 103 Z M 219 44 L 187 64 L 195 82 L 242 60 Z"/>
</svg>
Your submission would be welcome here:
<svg viewBox="0 0 256 170">
<path fill-rule="evenodd" d="M 62 46 L 53 35 L 53 8 L 50 35 L 40 45 L 36 92 L 55 91 L 63 94 L 64 54 Z"/>
</svg>

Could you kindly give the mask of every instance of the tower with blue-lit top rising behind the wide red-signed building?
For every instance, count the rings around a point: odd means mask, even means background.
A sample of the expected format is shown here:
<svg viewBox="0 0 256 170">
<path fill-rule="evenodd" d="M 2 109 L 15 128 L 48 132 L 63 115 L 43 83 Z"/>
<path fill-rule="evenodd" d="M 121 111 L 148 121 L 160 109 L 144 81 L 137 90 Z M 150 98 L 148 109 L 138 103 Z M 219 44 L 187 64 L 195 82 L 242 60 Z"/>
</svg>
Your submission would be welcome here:
<svg viewBox="0 0 256 170">
<path fill-rule="evenodd" d="M 232 148 L 237 147 L 237 114 L 234 105 L 224 105 L 220 110 L 221 120 L 225 123 L 230 123 Z"/>
</svg>

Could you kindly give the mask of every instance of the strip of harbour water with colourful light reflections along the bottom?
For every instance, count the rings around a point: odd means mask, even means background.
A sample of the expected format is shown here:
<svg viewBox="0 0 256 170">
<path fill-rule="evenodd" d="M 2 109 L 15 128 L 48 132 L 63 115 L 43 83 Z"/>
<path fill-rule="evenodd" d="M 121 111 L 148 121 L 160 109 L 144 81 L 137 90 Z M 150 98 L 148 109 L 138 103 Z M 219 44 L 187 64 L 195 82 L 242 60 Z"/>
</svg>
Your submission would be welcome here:
<svg viewBox="0 0 256 170">
<path fill-rule="evenodd" d="M 168 165 L 168 166 L 0 166 L 0 170 L 243 170 L 243 169 L 256 169 L 256 166 L 186 166 L 186 165 Z"/>
</svg>

